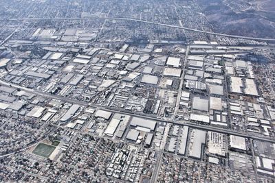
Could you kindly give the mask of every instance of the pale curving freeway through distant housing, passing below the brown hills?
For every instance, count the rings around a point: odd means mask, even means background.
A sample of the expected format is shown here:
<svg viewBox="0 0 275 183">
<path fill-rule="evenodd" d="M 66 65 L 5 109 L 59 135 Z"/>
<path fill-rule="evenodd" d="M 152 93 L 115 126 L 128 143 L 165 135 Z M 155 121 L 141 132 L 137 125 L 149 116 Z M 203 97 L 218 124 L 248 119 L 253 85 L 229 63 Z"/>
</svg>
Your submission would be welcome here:
<svg viewBox="0 0 275 183">
<path fill-rule="evenodd" d="M 200 32 L 205 34 L 211 34 L 215 36 L 225 36 L 229 38 L 243 38 L 248 40 L 260 40 L 260 41 L 275 41 L 275 39 L 272 38 L 254 38 L 254 37 L 248 37 L 248 36 L 236 36 L 231 34 L 221 34 L 217 32 L 207 32 L 199 29 L 192 29 L 188 27 L 181 27 L 178 25 L 169 25 L 165 23 L 157 23 L 157 22 L 151 22 L 151 21 L 143 21 L 140 19 L 130 19 L 130 18 L 122 18 L 122 17 L 87 17 L 87 18 L 19 18 L 19 19 L 0 19 L 0 21 L 82 21 L 82 20 L 118 20 L 118 21 L 135 21 L 140 23 L 148 23 L 151 25 L 161 25 L 164 27 L 171 27 L 176 29 L 184 29 L 186 31 L 191 32 Z"/>
</svg>

